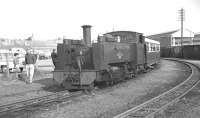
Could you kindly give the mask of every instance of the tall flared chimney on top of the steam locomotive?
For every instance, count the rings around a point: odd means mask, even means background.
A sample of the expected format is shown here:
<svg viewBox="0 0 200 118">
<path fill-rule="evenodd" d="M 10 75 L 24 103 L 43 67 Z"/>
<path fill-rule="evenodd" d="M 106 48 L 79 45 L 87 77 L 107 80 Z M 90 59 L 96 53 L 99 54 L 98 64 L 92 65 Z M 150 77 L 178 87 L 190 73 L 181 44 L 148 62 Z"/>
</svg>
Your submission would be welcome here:
<svg viewBox="0 0 200 118">
<path fill-rule="evenodd" d="M 87 46 L 91 46 L 91 25 L 83 25 L 83 41 Z"/>
</svg>

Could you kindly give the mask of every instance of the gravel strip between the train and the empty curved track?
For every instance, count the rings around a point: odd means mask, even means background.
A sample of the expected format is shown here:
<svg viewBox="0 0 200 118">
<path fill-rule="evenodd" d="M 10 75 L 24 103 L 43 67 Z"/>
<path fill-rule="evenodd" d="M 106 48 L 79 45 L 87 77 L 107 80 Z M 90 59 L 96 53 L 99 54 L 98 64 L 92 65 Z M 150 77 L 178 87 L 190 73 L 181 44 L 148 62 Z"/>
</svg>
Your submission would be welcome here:
<svg viewBox="0 0 200 118">
<path fill-rule="evenodd" d="M 161 66 L 113 87 L 83 95 L 31 118 L 110 118 L 169 90 L 189 76 L 188 67 L 163 60 Z"/>
</svg>

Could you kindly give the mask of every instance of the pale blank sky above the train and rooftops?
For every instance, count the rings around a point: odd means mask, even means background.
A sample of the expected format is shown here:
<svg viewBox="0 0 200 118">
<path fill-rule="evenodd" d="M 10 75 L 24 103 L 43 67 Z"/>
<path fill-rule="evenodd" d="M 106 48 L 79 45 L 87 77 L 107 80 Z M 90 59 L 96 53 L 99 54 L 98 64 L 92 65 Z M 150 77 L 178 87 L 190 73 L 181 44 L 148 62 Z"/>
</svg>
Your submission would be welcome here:
<svg viewBox="0 0 200 118">
<path fill-rule="evenodd" d="M 110 31 L 151 35 L 184 26 L 200 32 L 200 0 L 0 0 L 0 38 L 82 39 L 82 25 L 92 25 L 92 39 Z"/>
</svg>

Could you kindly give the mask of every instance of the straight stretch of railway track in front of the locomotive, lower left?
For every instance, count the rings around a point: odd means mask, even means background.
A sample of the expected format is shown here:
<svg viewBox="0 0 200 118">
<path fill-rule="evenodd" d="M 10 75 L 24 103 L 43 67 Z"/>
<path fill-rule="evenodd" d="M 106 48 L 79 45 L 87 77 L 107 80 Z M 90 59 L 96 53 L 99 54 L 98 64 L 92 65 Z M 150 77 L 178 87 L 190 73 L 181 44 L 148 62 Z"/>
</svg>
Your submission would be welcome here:
<svg viewBox="0 0 200 118">
<path fill-rule="evenodd" d="M 27 108 L 35 107 L 35 106 L 42 106 L 48 103 L 53 102 L 62 102 L 70 100 L 73 97 L 82 95 L 81 91 L 71 92 L 68 91 L 61 91 L 54 94 L 32 98 L 28 100 L 23 100 L 11 104 L 5 104 L 0 106 L 0 116 L 6 115 L 12 112 L 26 110 Z"/>
</svg>

